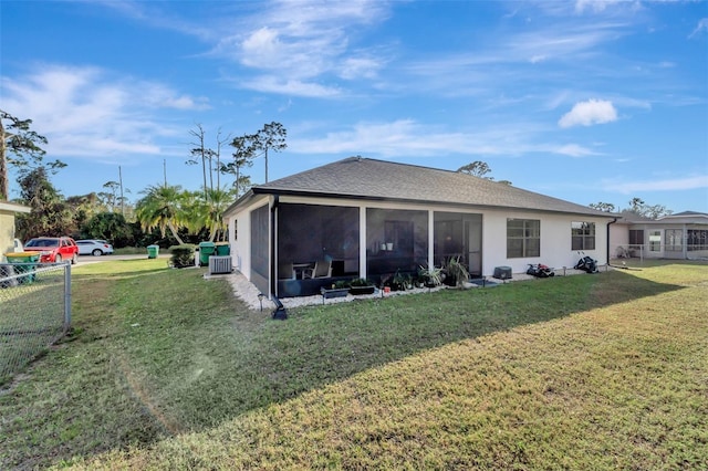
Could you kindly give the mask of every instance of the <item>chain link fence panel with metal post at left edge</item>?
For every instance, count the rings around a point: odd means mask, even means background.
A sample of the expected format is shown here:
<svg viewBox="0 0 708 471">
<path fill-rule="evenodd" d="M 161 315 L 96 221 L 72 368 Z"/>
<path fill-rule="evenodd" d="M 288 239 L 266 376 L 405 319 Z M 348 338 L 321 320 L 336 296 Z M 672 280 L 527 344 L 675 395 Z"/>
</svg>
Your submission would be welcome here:
<svg viewBox="0 0 708 471">
<path fill-rule="evenodd" d="M 0 263 L 0 385 L 59 341 L 70 324 L 69 263 Z"/>
</svg>

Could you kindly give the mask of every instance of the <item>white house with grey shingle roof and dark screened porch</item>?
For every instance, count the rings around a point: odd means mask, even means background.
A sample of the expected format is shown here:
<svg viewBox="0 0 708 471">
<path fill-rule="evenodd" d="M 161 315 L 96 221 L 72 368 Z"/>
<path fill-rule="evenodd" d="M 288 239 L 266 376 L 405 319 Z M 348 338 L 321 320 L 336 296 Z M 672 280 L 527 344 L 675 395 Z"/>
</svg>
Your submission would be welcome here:
<svg viewBox="0 0 708 471">
<path fill-rule="evenodd" d="M 262 293 L 288 297 L 450 258 L 473 276 L 571 268 L 580 251 L 604 264 L 614 216 L 466 174 L 351 157 L 254 186 L 225 220 L 235 266 Z"/>
</svg>

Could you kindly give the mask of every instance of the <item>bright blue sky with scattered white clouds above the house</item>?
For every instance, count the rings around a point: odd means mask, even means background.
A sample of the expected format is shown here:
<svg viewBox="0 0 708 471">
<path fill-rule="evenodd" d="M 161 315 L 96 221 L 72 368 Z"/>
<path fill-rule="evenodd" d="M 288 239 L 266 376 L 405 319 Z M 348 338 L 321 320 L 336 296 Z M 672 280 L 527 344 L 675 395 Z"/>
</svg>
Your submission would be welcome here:
<svg viewBox="0 0 708 471">
<path fill-rule="evenodd" d="M 708 212 L 708 3 L 8 1 L 0 108 L 64 196 L 198 189 L 207 145 L 288 129 L 271 180 L 361 155 L 581 205 Z M 230 148 L 222 153 L 230 155 Z M 264 179 L 263 159 L 249 170 Z M 225 179 L 228 184 L 228 178 Z M 395 185 L 395 182 L 392 182 Z M 17 185 L 11 197 L 17 197 Z"/>
</svg>

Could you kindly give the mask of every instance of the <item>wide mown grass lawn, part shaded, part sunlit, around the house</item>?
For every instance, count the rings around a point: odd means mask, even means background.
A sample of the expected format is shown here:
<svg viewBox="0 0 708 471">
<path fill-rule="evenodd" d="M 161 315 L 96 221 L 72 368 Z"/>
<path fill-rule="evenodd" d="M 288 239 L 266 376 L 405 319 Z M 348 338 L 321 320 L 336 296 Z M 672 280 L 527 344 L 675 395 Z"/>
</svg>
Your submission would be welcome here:
<svg viewBox="0 0 708 471">
<path fill-rule="evenodd" d="M 708 265 L 290 311 L 164 260 L 77 266 L 74 331 L 0 393 L 0 468 L 687 469 Z"/>
</svg>

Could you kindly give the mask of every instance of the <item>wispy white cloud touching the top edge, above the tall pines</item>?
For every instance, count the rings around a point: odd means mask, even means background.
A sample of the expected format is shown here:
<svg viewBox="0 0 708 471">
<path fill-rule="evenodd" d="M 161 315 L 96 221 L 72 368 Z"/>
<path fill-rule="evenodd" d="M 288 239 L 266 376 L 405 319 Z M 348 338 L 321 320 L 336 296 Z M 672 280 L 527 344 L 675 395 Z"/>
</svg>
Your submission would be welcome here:
<svg viewBox="0 0 708 471">
<path fill-rule="evenodd" d="M 299 1 L 264 6 L 258 14 L 238 20 L 239 33 L 233 34 L 231 25 L 214 52 L 247 67 L 278 75 L 278 80 L 270 81 L 269 92 L 290 94 L 293 83 L 313 82 L 314 77 L 330 73 L 346 80 L 375 77 L 383 61 L 371 51 L 353 53 L 352 32 L 384 21 L 388 15 L 385 2 Z M 242 85 L 262 90 L 252 80 Z M 314 95 L 308 92 L 305 96 Z"/>
</svg>

